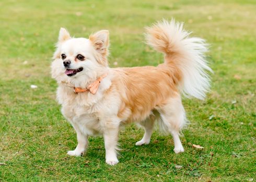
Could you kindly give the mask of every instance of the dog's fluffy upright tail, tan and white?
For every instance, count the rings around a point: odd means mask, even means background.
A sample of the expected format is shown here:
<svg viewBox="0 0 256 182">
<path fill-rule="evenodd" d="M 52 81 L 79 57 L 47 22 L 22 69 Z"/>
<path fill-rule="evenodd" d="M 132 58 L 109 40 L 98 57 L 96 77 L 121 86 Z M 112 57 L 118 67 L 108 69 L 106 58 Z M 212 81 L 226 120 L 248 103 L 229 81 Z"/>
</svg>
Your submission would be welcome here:
<svg viewBox="0 0 256 182">
<path fill-rule="evenodd" d="M 210 88 L 205 60 L 207 46 L 202 38 L 189 37 L 183 23 L 163 20 L 146 28 L 147 44 L 165 54 L 165 63 L 177 68 L 181 78 L 179 88 L 187 97 L 204 99 Z M 175 74 L 174 74 L 175 75 Z"/>
</svg>

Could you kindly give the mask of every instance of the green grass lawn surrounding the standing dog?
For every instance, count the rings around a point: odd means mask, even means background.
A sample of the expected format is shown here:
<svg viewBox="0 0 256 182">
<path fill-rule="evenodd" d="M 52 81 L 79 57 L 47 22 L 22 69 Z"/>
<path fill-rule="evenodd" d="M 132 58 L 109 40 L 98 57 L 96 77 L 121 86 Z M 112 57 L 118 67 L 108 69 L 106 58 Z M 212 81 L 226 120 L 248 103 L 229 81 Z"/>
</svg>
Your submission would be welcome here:
<svg viewBox="0 0 256 182">
<path fill-rule="evenodd" d="M 2 0 L 0 181 L 256 180 L 255 9 L 253 0 Z M 60 27 L 77 37 L 108 29 L 111 67 L 155 66 L 162 55 L 143 43 L 143 27 L 172 17 L 211 45 L 214 70 L 206 100 L 183 101 L 191 121 L 183 131 L 185 152 L 174 154 L 171 136 L 157 132 L 148 146 L 135 146 L 143 131 L 132 125 L 120 133 L 118 165 L 105 164 L 102 138 L 89 139 L 85 157 L 68 157 L 76 134 L 61 115 L 50 76 Z"/>
</svg>

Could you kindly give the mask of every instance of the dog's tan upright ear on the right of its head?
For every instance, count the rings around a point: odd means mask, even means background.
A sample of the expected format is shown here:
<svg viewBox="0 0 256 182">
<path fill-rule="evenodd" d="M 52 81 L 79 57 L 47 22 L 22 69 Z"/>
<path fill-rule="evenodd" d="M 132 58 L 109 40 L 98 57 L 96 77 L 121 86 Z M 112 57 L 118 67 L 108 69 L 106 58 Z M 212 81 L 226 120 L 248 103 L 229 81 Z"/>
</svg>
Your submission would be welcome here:
<svg viewBox="0 0 256 182">
<path fill-rule="evenodd" d="M 95 34 L 90 35 L 89 40 L 91 41 L 92 45 L 94 46 L 97 52 L 97 61 L 103 64 L 104 66 L 107 66 L 107 57 L 109 54 L 109 31 L 101 30 L 99 32 L 96 32 Z"/>
</svg>

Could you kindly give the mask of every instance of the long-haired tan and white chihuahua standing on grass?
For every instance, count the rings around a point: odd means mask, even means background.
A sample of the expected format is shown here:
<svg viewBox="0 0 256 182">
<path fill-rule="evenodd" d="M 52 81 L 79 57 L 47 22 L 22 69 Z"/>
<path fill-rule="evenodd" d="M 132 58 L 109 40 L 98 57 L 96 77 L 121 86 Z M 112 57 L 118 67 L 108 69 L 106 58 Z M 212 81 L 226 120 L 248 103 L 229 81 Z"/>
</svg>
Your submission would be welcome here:
<svg viewBox="0 0 256 182">
<path fill-rule="evenodd" d="M 103 135 L 106 163 L 117 164 L 119 128 L 131 122 L 145 129 L 137 146 L 149 144 L 157 122 L 172 135 L 174 152 L 184 151 L 179 133 L 187 119 L 181 95 L 203 99 L 209 90 L 207 46 L 174 20 L 146 31 L 147 44 L 164 53 L 164 63 L 113 69 L 108 66 L 109 31 L 73 38 L 61 28 L 51 68 L 62 114 L 77 133 L 78 145 L 68 155 L 84 154 L 88 136 Z"/>
</svg>

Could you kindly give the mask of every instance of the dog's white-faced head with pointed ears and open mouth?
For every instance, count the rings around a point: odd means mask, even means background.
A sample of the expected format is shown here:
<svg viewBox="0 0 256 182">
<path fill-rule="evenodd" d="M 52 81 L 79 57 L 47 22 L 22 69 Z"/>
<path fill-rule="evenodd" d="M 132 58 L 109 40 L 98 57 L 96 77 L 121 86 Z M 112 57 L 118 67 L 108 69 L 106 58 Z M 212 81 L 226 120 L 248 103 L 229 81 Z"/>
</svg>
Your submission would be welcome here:
<svg viewBox="0 0 256 182">
<path fill-rule="evenodd" d="M 61 28 L 53 55 L 52 77 L 76 87 L 95 81 L 108 67 L 109 32 L 101 30 L 87 38 L 73 38 Z"/>
</svg>

